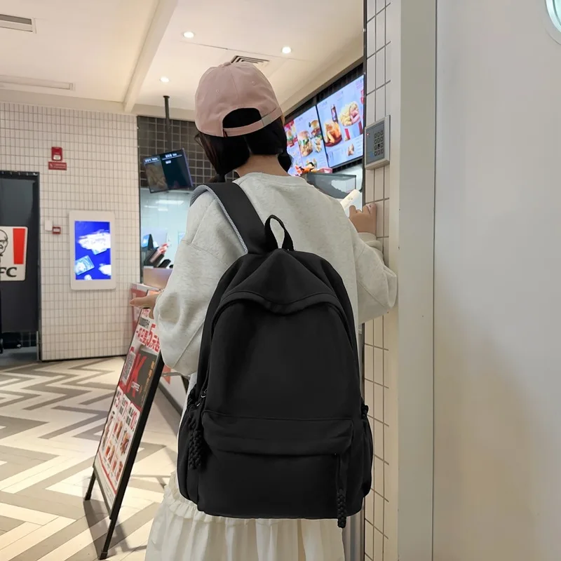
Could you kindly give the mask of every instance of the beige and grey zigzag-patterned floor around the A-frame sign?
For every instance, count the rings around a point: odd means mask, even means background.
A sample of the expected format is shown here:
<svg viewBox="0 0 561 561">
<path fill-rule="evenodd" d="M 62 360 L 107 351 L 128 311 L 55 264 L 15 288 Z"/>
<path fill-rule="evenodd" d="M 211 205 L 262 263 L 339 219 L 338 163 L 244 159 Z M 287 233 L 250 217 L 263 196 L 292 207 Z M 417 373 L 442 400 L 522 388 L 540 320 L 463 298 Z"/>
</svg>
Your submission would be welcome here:
<svg viewBox="0 0 561 561">
<path fill-rule="evenodd" d="M 0 356 L 0 560 L 97 559 L 108 520 L 99 489 L 84 503 L 123 361 L 4 368 Z M 140 561 L 175 468 L 179 415 L 158 393 L 130 480 L 112 561 Z"/>
</svg>

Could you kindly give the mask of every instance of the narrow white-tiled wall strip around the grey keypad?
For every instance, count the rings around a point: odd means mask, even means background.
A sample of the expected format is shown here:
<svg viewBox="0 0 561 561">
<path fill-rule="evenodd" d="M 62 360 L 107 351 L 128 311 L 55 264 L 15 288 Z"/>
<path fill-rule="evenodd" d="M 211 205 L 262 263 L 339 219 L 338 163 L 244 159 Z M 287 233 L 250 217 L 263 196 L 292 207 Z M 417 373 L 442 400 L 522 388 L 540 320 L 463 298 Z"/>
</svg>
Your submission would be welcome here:
<svg viewBox="0 0 561 561">
<path fill-rule="evenodd" d="M 391 10 L 390 0 L 367 0 L 367 41 L 366 41 L 366 124 L 370 125 L 389 114 L 391 75 L 390 53 L 391 33 L 386 25 L 387 13 Z M 391 168 L 365 171 L 365 198 L 367 203 L 376 203 L 377 236 L 384 243 L 387 263 L 389 248 L 389 208 Z M 387 492 L 387 481 L 391 466 L 387 453 L 389 440 L 396 438 L 389 426 L 388 408 L 395 400 L 395 387 L 389 377 L 388 340 L 384 337 L 386 318 L 378 318 L 365 328 L 365 397 L 370 406 L 370 425 L 374 435 L 374 477 L 372 492 L 366 499 L 365 514 L 365 560 L 388 561 L 388 539 L 390 536 L 387 520 L 391 508 Z M 392 560 L 393 561 L 393 560 Z"/>
</svg>

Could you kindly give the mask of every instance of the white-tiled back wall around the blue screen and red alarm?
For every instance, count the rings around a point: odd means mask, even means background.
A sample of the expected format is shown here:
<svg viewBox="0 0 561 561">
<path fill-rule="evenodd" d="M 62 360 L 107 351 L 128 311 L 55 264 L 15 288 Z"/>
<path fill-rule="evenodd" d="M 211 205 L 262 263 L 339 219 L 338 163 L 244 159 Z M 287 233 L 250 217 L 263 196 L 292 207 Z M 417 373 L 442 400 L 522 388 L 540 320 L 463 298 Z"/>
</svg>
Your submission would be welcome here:
<svg viewBox="0 0 561 561">
<path fill-rule="evenodd" d="M 53 146 L 67 171 L 48 170 Z M 128 290 L 140 275 L 136 118 L 0 103 L 0 170 L 40 173 L 43 360 L 125 353 Z M 70 210 L 114 212 L 116 290 L 70 290 Z M 44 231 L 46 219 L 62 235 Z"/>
</svg>

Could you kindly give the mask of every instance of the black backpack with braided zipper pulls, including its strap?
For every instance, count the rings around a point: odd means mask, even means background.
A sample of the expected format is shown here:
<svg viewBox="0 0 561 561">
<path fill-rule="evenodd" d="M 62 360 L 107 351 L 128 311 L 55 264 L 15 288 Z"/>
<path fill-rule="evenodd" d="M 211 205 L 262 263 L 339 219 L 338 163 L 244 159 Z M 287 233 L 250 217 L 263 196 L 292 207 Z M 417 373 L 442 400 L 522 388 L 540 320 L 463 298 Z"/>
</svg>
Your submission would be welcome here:
<svg viewBox="0 0 561 561">
<path fill-rule="evenodd" d="M 247 253 L 208 306 L 180 426 L 180 491 L 210 515 L 344 527 L 370 492 L 372 432 L 342 278 L 295 251 L 280 219 L 263 224 L 238 185 L 200 187 L 194 198 L 204 191 Z M 285 231 L 282 248 L 271 220 Z"/>
</svg>

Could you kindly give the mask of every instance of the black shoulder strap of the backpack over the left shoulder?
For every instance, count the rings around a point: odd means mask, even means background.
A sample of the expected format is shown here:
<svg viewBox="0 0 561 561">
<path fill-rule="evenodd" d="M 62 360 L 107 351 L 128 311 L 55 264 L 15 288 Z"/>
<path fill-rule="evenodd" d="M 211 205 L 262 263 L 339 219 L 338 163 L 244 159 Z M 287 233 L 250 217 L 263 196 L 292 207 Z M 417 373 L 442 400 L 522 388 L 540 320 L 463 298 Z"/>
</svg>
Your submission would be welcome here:
<svg viewBox="0 0 561 561">
<path fill-rule="evenodd" d="M 191 205 L 203 193 L 210 193 L 218 201 L 245 252 L 261 254 L 267 251 L 264 224 L 245 191 L 238 184 L 209 183 L 201 185 L 195 189 Z"/>
</svg>

